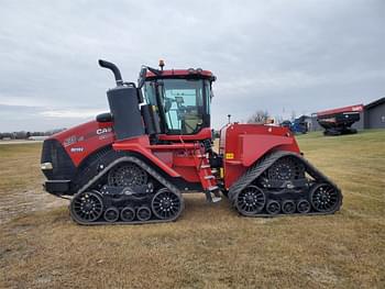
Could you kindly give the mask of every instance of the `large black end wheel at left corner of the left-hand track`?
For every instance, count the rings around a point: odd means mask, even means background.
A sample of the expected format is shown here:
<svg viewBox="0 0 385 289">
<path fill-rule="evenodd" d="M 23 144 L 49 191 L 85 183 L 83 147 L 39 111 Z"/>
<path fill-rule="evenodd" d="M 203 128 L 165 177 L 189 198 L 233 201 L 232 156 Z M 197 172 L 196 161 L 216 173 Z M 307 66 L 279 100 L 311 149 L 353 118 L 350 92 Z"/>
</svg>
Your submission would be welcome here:
<svg viewBox="0 0 385 289">
<path fill-rule="evenodd" d="M 97 221 L 103 211 L 103 203 L 98 192 L 81 192 L 75 194 L 69 204 L 72 218 L 78 223 Z"/>
</svg>

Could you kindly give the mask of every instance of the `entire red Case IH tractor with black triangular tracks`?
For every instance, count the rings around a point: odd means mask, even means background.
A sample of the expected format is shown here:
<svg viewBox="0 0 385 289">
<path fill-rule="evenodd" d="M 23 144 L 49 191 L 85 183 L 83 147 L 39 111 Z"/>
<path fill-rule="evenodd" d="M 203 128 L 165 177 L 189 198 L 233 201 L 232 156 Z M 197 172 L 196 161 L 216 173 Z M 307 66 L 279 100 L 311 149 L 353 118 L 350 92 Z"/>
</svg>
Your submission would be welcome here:
<svg viewBox="0 0 385 289">
<path fill-rule="evenodd" d="M 245 216 L 330 214 L 340 189 L 300 154 L 286 127 L 229 123 L 212 149 L 208 70 L 143 67 L 138 86 L 110 69 L 110 112 L 53 135 L 43 144 L 45 190 L 70 196 L 79 224 L 176 220 L 183 192 L 209 202 L 229 198 Z"/>
</svg>

